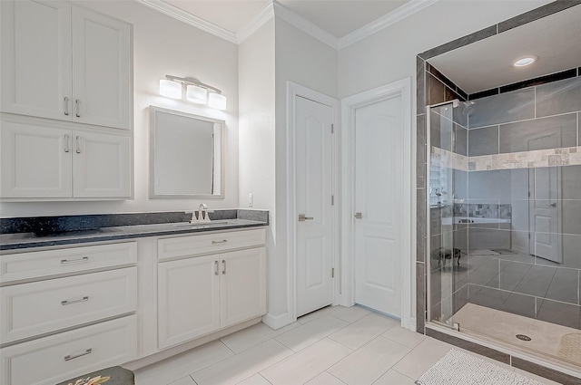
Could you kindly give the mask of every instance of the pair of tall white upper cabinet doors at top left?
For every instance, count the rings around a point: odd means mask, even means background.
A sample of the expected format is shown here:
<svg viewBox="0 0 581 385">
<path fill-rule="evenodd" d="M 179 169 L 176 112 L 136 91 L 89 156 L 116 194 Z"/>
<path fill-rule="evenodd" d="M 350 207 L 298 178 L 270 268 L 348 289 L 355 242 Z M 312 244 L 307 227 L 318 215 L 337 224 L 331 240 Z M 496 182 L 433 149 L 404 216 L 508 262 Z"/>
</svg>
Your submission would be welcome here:
<svg viewBox="0 0 581 385">
<path fill-rule="evenodd" d="M 2 1 L 2 111 L 131 130 L 131 26 L 58 1 Z"/>
</svg>

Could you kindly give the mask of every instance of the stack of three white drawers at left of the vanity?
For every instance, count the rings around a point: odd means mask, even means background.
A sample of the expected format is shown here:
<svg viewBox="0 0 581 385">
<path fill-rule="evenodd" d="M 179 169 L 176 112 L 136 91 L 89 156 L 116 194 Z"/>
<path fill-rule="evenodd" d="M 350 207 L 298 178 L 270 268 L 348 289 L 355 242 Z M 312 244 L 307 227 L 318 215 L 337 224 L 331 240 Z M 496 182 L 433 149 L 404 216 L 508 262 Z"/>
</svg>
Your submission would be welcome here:
<svg viewBox="0 0 581 385">
<path fill-rule="evenodd" d="M 0 384 L 54 385 L 138 358 L 137 243 L 0 255 Z"/>
</svg>

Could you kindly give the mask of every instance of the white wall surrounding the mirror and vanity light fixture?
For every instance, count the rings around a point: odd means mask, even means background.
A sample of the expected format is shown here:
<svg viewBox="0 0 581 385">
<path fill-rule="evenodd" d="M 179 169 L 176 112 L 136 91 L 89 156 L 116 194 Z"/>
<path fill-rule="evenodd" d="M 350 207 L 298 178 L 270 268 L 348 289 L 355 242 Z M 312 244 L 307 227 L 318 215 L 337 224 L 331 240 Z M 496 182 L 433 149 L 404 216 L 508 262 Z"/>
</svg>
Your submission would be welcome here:
<svg viewBox="0 0 581 385">
<path fill-rule="evenodd" d="M 226 120 L 225 199 L 204 199 L 211 208 L 238 207 L 238 46 L 133 1 L 81 1 L 80 5 L 133 24 L 135 198 L 108 202 L 3 203 L 2 217 L 180 211 L 197 199 L 149 199 L 149 105 Z M 228 110 L 215 111 L 159 96 L 166 74 L 195 77 L 222 90 Z"/>
</svg>

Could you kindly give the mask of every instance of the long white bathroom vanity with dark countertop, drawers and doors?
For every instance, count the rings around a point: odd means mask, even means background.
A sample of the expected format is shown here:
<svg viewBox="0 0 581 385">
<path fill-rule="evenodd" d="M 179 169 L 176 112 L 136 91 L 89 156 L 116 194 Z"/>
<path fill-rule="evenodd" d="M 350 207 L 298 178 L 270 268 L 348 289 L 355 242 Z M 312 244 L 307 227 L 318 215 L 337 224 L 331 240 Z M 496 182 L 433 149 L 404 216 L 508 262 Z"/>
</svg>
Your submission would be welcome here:
<svg viewBox="0 0 581 385">
<path fill-rule="evenodd" d="M 268 213 L 225 211 L 236 217 L 40 236 L 4 228 L 0 382 L 134 369 L 260 322 Z"/>
</svg>

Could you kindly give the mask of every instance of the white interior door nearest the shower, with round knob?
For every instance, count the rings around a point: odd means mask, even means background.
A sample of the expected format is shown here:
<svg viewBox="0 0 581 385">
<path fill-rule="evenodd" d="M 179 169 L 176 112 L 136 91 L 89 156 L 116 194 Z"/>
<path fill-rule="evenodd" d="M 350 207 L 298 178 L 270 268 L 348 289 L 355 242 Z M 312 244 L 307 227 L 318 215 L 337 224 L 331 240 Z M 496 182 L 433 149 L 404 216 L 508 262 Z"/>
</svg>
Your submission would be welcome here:
<svg viewBox="0 0 581 385">
<path fill-rule="evenodd" d="M 355 302 L 401 317 L 401 95 L 355 110 Z"/>
</svg>

